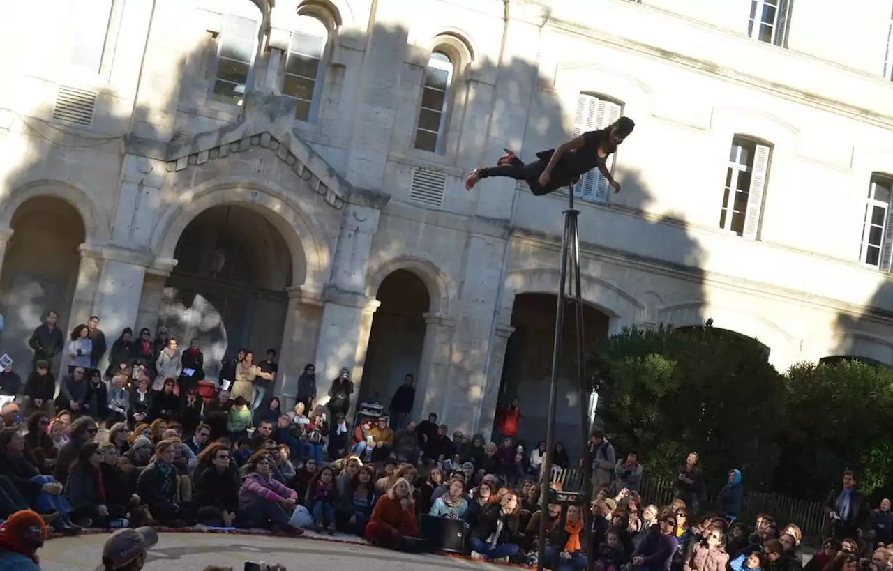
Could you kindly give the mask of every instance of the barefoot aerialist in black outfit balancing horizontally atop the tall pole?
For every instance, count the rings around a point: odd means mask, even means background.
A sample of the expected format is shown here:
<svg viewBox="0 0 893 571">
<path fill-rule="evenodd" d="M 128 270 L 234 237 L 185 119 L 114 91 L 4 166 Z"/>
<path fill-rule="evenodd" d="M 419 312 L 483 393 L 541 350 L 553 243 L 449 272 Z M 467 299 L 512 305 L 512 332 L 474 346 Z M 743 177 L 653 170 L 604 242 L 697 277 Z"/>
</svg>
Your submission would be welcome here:
<svg viewBox="0 0 893 571">
<path fill-rule="evenodd" d="M 629 137 L 635 127 L 629 117 L 621 117 L 606 128 L 587 131 L 555 149 L 540 151 L 538 160 L 527 164 L 505 149 L 506 153 L 497 161 L 496 167 L 472 170 L 465 179 L 465 188 L 471 190 L 481 178 L 508 177 L 526 181 L 530 191 L 540 196 L 576 183 L 597 167 L 614 192 L 619 193 L 620 184 L 608 172 L 605 161 L 609 154 L 616 153 L 617 145 Z"/>
</svg>

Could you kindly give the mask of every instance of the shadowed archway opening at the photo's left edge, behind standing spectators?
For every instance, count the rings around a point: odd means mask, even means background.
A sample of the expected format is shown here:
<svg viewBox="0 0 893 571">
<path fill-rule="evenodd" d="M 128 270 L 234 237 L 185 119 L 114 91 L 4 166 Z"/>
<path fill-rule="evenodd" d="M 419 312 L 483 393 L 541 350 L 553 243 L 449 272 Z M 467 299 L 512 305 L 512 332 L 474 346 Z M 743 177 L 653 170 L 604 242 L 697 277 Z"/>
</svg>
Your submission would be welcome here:
<svg viewBox="0 0 893 571">
<path fill-rule="evenodd" d="M 63 199 L 43 195 L 21 203 L 13 213 L 13 236 L 0 274 L 0 313 L 4 316 L 4 351 L 24 378 L 33 352 L 28 339 L 47 310 L 59 315 L 63 337 L 77 285 L 79 245 L 86 229 L 78 211 Z M 59 359 L 53 363 L 57 371 Z"/>
</svg>

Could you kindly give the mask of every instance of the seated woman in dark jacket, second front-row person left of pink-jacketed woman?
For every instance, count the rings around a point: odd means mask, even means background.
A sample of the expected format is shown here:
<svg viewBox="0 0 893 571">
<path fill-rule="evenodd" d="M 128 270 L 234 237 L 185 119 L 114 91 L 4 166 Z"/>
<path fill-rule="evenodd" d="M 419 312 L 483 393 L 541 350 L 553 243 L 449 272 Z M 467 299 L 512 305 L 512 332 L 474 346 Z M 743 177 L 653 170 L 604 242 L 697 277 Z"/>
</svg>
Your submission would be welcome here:
<svg viewBox="0 0 893 571">
<path fill-rule="evenodd" d="M 170 527 L 185 527 L 189 520 L 188 510 L 179 499 L 179 473 L 173 464 L 179 444 L 179 440 L 155 444 L 154 456 L 137 481 L 139 497 L 146 502 L 153 517 Z"/>
</svg>

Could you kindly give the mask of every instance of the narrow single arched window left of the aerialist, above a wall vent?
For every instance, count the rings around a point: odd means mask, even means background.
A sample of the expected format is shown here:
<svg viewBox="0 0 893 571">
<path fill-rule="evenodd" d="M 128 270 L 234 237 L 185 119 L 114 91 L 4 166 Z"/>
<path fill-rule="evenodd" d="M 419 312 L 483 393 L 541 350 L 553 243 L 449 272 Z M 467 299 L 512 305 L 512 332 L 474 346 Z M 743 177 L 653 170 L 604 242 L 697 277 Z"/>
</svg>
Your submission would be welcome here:
<svg viewBox="0 0 893 571">
<path fill-rule="evenodd" d="M 431 54 L 421 89 L 419 123 L 415 128 L 417 149 L 430 153 L 443 153 L 453 70 L 453 61 L 447 54 L 443 52 Z"/>
</svg>

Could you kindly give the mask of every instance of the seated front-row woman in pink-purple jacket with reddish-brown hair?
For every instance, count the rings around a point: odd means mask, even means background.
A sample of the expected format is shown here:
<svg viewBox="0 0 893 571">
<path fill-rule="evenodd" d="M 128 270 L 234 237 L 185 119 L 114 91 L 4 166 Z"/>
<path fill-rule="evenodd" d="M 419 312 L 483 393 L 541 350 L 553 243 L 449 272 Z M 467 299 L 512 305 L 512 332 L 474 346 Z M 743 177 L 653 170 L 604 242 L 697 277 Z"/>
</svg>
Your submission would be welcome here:
<svg viewBox="0 0 893 571">
<path fill-rule="evenodd" d="M 295 537 L 304 534 L 303 529 L 288 522 L 297 493 L 272 478 L 267 454 L 256 453 L 248 459 L 246 468 L 238 490 L 239 520 L 249 527 L 267 527 Z"/>
</svg>

